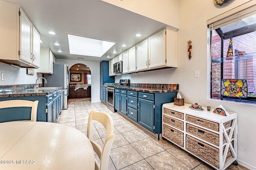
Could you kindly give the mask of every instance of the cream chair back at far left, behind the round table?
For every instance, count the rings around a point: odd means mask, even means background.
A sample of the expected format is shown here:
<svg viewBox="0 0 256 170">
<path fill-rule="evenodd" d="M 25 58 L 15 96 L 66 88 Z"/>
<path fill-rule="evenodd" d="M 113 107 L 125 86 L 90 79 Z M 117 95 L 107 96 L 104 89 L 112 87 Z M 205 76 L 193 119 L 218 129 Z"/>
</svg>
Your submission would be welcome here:
<svg viewBox="0 0 256 170">
<path fill-rule="evenodd" d="M 28 100 L 6 100 L 0 102 L 0 109 L 10 107 L 31 107 L 30 121 L 36 121 L 38 100 L 32 102 Z"/>
</svg>

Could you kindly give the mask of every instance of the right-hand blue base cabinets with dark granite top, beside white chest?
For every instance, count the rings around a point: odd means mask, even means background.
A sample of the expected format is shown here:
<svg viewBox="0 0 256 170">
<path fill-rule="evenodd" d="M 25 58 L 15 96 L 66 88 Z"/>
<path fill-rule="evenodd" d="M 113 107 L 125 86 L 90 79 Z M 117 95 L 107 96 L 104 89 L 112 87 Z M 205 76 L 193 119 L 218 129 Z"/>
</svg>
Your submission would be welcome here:
<svg viewBox="0 0 256 170">
<path fill-rule="evenodd" d="M 130 84 L 115 87 L 115 109 L 152 136 L 162 133 L 162 105 L 174 102 L 178 84 Z"/>
</svg>

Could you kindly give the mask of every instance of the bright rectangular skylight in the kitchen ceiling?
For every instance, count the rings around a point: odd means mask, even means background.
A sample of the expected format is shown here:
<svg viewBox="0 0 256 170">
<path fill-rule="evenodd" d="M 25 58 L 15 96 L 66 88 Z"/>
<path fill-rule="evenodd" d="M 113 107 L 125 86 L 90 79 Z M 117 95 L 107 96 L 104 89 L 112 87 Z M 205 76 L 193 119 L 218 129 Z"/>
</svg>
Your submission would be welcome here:
<svg viewBox="0 0 256 170">
<path fill-rule="evenodd" d="M 68 34 L 69 53 L 102 57 L 116 43 Z"/>
</svg>

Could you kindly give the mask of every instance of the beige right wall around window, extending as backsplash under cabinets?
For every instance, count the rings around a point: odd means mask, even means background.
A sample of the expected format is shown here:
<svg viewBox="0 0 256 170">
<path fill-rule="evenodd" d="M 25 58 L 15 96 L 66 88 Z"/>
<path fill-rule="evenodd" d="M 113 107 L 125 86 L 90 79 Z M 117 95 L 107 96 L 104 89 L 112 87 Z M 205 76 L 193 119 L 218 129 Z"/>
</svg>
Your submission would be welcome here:
<svg viewBox="0 0 256 170">
<path fill-rule="evenodd" d="M 210 99 L 210 32 L 206 21 L 250 0 L 233 0 L 226 6 L 215 6 L 212 0 L 180 0 L 178 30 L 178 68 L 116 76 L 115 82 L 129 78 L 131 83 L 178 83 L 184 102 L 212 108 L 222 104 L 237 113 L 238 163 L 256 169 L 256 105 Z M 256 4 L 256 0 L 250 1 Z M 188 59 L 187 42 L 192 41 L 192 58 Z M 194 78 L 194 70 L 200 77 Z"/>
</svg>

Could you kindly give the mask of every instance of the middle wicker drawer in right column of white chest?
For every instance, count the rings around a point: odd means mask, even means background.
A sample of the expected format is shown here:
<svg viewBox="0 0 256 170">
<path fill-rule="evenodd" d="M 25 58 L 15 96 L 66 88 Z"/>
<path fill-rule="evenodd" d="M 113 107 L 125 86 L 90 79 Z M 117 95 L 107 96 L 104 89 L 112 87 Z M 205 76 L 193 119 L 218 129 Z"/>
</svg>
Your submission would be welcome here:
<svg viewBox="0 0 256 170">
<path fill-rule="evenodd" d="M 219 135 L 217 133 L 213 133 L 205 129 L 201 129 L 199 127 L 190 125 L 188 123 L 187 123 L 187 132 L 190 133 L 191 135 L 194 135 L 214 145 L 219 146 Z"/>
</svg>

